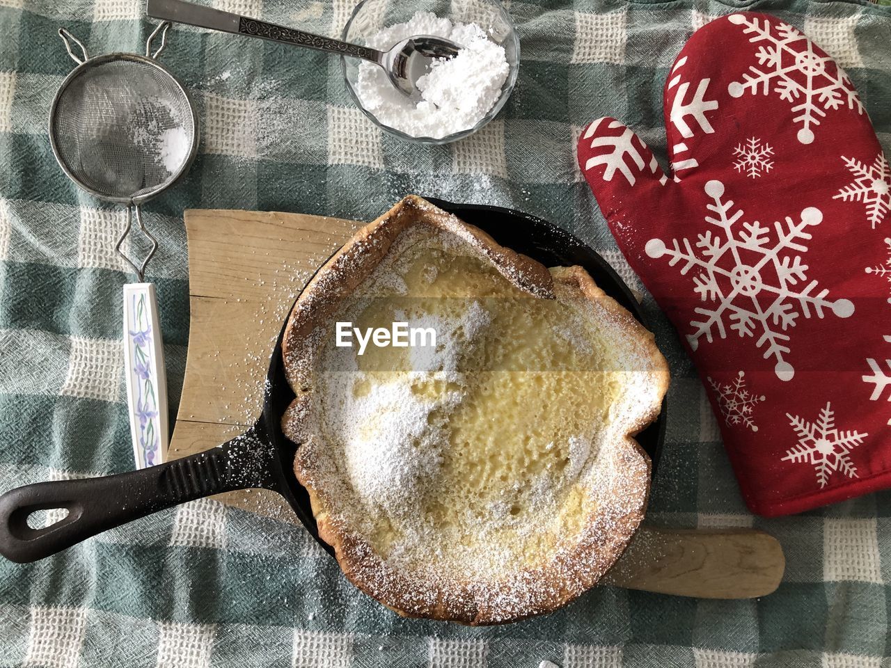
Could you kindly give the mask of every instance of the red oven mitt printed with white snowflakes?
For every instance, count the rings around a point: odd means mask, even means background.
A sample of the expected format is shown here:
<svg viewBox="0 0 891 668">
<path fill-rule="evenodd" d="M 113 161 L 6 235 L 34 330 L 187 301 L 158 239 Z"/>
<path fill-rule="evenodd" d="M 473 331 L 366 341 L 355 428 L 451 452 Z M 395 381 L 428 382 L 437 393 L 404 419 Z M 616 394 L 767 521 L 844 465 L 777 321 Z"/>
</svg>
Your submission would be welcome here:
<svg viewBox="0 0 891 668">
<path fill-rule="evenodd" d="M 781 20 L 733 14 L 684 46 L 665 120 L 671 175 L 613 118 L 579 165 L 689 348 L 748 507 L 891 486 L 891 170 L 850 79 Z"/>
</svg>

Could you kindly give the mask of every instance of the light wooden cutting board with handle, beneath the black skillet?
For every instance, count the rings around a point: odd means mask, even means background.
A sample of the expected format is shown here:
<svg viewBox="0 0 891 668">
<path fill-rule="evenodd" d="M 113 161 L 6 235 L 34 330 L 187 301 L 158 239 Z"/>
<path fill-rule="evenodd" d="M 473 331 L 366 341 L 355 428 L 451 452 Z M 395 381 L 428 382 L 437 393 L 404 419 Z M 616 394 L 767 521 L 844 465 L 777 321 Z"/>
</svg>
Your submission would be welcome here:
<svg viewBox="0 0 891 668">
<path fill-rule="evenodd" d="M 269 355 L 290 305 L 361 225 L 275 212 L 185 212 L 192 323 L 169 458 L 207 450 L 253 424 L 263 405 Z M 215 498 L 298 522 L 274 492 Z M 605 581 L 680 596 L 747 599 L 775 590 L 784 566 L 779 542 L 761 531 L 644 526 Z"/>
</svg>

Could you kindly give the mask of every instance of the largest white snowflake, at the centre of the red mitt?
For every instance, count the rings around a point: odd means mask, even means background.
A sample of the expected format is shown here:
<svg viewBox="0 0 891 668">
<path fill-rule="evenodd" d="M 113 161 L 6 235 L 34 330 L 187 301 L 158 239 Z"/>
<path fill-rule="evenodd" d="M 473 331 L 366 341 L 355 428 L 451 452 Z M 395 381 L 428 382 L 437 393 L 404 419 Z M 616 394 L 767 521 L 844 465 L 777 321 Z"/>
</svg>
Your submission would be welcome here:
<svg viewBox="0 0 891 668">
<path fill-rule="evenodd" d="M 645 247 L 647 255 L 668 256 L 669 266 L 683 263 L 682 275 L 693 267 L 698 270 L 693 291 L 709 305 L 697 307 L 695 312 L 703 320 L 690 323 L 693 332 L 687 335 L 687 342 L 693 350 L 702 337 L 711 343 L 715 331 L 719 338 L 726 338 L 726 317 L 730 329 L 740 338 L 754 337 L 757 330 L 756 346 L 764 347 L 764 359 L 772 357 L 777 377 L 790 380 L 795 369 L 784 357 L 790 352 L 789 334 L 785 332 L 796 325 L 798 317 L 816 314 L 822 318 L 824 309 L 839 318 L 854 313 L 849 299 L 832 301 L 828 289 L 818 291 L 817 281 L 805 284 L 808 266 L 799 253 L 807 250 L 805 241 L 813 238 L 807 228 L 821 223 L 822 212 L 805 208 L 797 222 L 786 216 L 784 223 L 773 224 L 776 240 L 772 241 L 770 228 L 758 221 L 743 222 L 741 230 L 734 228 L 743 212 L 734 213 L 732 200 L 722 200 L 723 183 L 709 181 L 705 191 L 713 200 L 707 209 L 715 214 L 705 220 L 721 232 L 699 234 L 696 249 L 688 239 L 682 240 L 683 247 L 674 239 L 672 248 L 667 248 L 663 240 L 650 239 Z"/>
</svg>

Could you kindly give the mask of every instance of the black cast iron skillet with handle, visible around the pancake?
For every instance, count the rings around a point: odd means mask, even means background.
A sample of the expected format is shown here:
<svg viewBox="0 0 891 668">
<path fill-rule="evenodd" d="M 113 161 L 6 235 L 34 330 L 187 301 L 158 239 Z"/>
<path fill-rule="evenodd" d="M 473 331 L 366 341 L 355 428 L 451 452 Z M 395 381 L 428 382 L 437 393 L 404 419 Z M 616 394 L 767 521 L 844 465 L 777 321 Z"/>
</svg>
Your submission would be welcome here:
<svg viewBox="0 0 891 668">
<path fill-rule="evenodd" d="M 539 218 L 506 208 L 430 200 L 491 234 L 499 243 L 547 266 L 581 265 L 601 289 L 646 325 L 640 306 L 612 268 L 576 237 Z M 107 529 L 186 501 L 247 488 L 282 494 L 310 534 L 319 540 L 306 490 L 294 476 L 298 444 L 282 434 L 282 413 L 294 399 L 282 365 L 284 328 L 269 363 L 263 413 L 241 436 L 206 452 L 115 476 L 37 483 L 0 497 L 0 554 L 12 561 L 48 557 Z M 663 403 L 658 420 L 637 436 L 654 469 L 665 436 Z M 68 509 L 53 525 L 34 529 L 37 510 Z"/>
</svg>

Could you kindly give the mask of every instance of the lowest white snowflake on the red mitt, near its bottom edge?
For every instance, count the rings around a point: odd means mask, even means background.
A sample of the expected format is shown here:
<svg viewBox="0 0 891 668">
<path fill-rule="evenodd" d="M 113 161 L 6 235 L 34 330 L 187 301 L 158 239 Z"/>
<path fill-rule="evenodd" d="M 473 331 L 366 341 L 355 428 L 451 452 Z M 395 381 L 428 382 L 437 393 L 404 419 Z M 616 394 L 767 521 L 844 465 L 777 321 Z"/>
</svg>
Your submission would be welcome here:
<svg viewBox="0 0 891 668">
<path fill-rule="evenodd" d="M 786 451 L 782 461 L 810 464 L 817 474 L 817 484 L 825 487 L 830 475 L 841 471 L 847 477 L 857 477 L 857 468 L 850 452 L 869 434 L 858 431 L 839 431 L 835 426 L 835 412 L 830 402 L 821 409 L 820 416 L 808 422 L 797 415 L 786 413 L 789 424 L 798 436 L 798 443 Z"/>
</svg>

